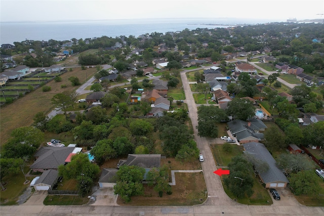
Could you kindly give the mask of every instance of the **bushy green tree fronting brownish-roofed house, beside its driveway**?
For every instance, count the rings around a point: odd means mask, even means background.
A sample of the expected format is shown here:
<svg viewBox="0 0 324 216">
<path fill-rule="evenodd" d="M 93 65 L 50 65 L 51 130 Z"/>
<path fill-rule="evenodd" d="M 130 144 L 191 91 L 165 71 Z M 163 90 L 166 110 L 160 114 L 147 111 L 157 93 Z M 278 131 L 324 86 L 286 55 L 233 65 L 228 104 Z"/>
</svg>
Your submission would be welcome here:
<svg viewBox="0 0 324 216">
<path fill-rule="evenodd" d="M 145 169 L 139 166 L 121 166 L 117 171 L 117 182 L 113 186 L 114 194 L 121 199 L 130 202 L 132 196 L 143 195 L 144 187 L 141 181 L 144 178 Z"/>
</svg>

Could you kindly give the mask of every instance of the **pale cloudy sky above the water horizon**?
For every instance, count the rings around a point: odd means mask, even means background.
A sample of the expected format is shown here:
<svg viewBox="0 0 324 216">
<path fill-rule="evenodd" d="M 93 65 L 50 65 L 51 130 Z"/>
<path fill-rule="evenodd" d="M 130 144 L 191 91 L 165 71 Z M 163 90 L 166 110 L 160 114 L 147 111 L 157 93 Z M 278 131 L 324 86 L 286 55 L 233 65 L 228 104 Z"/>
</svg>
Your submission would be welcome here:
<svg viewBox="0 0 324 216">
<path fill-rule="evenodd" d="M 294 0 L 0 0 L 0 20 L 55 21 L 149 18 L 324 18 L 324 1 Z"/>
</svg>

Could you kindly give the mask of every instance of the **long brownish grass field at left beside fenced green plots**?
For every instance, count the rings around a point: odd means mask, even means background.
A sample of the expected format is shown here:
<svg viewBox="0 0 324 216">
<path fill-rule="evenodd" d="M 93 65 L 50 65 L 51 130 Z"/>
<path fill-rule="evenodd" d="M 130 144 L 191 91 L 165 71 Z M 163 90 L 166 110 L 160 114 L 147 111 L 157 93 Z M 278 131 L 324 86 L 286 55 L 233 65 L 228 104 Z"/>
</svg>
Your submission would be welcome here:
<svg viewBox="0 0 324 216">
<path fill-rule="evenodd" d="M 79 88 L 79 86 L 72 87 L 68 78 L 70 76 L 76 76 L 79 78 L 81 83 L 84 83 L 86 81 L 86 71 L 88 77 L 91 77 L 96 73 L 95 68 L 87 68 L 87 70 L 73 68 L 73 71 L 61 75 L 61 82 L 55 82 L 52 80 L 47 83 L 47 85 L 51 87 L 50 92 L 43 92 L 42 88 L 38 88 L 26 96 L 14 101 L 14 103 L 1 107 L 0 145 L 3 145 L 8 141 L 13 129 L 22 126 L 30 126 L 33 123 L 32 119 L 37 112 L 44 112 L 46 114 L 51 112 L 54 109 L 54 106 L 51 103 L 51 99 L 54 95 L 64 91 L 73 91 Z M 62 89 L 62 84 L 66 84 L 67 88 Z"/>
</svg>

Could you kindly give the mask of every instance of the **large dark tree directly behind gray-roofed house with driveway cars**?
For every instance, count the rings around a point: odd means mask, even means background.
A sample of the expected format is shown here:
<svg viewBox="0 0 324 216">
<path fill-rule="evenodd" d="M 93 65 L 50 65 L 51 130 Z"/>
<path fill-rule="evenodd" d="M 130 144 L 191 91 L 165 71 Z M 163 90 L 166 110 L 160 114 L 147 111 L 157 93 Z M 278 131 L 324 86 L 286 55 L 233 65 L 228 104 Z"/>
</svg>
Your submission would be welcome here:
<svg viewBox="0 0 324 216">
<path fill-rule="evenodd" d="M 252 102 L 246 99 L 234 98 L 228 102 L 226 109 L 227 115 L 233 116 L 235 119 L 246 121 L 255 115 L 255 106 Z"/>
</svg>

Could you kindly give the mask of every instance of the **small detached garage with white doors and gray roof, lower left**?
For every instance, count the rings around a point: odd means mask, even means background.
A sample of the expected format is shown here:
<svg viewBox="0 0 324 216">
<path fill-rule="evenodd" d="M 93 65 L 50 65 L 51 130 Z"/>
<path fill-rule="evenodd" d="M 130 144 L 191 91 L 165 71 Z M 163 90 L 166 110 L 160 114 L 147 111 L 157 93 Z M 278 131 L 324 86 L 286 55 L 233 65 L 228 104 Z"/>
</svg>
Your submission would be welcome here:
<svg viewBox="0 0 324 216">
<path fill-rule="evenodd" d="M 42 176 L 35 182 L 34 188 L 36 191 L 52 190 L 57 182 L 58 170 L 48 169 L 43 172 Z"/>
</svg>

